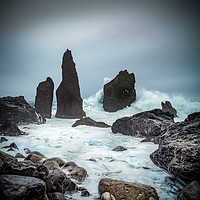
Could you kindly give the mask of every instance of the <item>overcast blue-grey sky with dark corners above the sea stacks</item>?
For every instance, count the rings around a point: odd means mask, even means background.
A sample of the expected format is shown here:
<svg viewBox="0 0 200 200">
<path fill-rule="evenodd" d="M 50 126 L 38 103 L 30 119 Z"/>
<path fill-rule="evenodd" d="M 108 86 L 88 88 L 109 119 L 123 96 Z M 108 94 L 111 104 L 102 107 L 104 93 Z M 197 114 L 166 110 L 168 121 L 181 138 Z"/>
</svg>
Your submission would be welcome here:
<svg viewBox="0 0 200 200">
<path fill-rule="evenodd" d="M 70 49 L 87 98 L 127 69 L 136 91 L 200 96 L 200 5 L 195 0 L 4 0 L 0 3 L 0 97 L 34 100 L 55 90 Z"/>
</svg>

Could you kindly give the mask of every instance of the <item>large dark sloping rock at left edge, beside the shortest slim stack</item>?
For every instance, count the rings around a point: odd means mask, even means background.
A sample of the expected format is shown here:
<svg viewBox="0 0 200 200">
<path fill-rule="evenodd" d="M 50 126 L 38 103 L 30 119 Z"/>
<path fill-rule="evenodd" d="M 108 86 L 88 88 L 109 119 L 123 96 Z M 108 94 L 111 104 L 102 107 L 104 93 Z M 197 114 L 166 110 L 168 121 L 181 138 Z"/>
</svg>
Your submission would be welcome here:
<svg viewBox="0 0 200 200">
<path fill-rule="evenodd" d="M 0 98 L 0 124 L 7 119 L 13 120 L 16 124 L 45 123 L 45 119 L 25 101 L 23 96 Z"/>
</svg>

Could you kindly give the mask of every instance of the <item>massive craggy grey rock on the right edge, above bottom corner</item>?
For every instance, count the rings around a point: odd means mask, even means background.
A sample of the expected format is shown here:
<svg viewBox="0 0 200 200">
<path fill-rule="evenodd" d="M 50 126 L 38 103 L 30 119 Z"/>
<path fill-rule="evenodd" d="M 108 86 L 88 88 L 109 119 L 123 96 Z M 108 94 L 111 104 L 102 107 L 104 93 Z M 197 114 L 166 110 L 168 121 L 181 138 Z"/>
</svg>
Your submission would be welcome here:
<svg viewBox="0 0 200 200">
<path fill-rule="evenodd" d="M 200 112 L 172 124 L 155 142 L 159 148 L 150 155 L 155 165 L 182 181 L 200 181 Z"/>
</svg>

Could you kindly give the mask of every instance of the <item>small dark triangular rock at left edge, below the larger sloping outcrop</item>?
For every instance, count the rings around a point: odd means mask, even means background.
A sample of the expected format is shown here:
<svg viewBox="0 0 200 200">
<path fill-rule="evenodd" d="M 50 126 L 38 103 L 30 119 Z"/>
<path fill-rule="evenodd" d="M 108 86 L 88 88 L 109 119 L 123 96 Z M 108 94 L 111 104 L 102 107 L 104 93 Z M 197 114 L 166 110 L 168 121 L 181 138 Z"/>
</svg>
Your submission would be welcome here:
<svg viewBox="0 0 200 200">
<path fill-rule="evenodd" d="M 0 126 L 0 135 L 4 136 L 19 136 L 26 133 L 21 131 L 18 126 L 12 120 L 5 120 Z"/>
</svg>

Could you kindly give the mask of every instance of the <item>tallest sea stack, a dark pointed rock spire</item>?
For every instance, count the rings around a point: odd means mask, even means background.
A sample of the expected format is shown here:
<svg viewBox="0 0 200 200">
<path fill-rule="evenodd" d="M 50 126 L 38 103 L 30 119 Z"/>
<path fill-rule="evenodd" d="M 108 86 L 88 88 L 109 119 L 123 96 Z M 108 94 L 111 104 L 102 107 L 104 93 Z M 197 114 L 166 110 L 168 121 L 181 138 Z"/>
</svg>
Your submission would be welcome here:
<svg viewBox="0 0 200 200">
<path fill-rule="evenodd" d="M 56 97 L 57 118 L 73 119 L 85 116 L 75 63 L 68 49 L 63 55 L 62 82 L 56 91 Z"/>
</svg>

